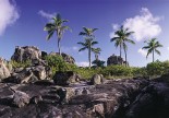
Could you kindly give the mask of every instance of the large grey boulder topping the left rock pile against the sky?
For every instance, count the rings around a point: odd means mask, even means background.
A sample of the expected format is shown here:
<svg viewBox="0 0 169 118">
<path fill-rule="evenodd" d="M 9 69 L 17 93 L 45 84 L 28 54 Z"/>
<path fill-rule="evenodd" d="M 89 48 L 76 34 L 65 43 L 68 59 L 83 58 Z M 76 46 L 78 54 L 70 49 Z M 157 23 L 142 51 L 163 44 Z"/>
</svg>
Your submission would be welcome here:
<svg viewBox="0 0 169 118">
<path fill-rule="evenodd" d="M 41 51 L 35 46 L 15 47 L 15 51 L 11 57 L 12 60 L 24 62 L 27 60 L 40 59 Z"/>
</svg>

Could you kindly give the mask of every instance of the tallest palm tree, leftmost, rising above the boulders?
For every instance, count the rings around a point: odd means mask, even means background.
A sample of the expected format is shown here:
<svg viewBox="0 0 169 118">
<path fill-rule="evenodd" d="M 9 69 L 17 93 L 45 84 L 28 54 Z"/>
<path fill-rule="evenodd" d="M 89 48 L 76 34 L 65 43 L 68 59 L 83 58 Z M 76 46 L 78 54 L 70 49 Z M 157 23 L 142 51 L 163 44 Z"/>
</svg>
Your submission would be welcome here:
<svg viewBox="0 0 169 118">
<path fill-rule="evenodd" d="M 56 16 L 52 17 L 52 23 L 49 22 L 46 24 L 44 31 L 48 32 L 48 36 L 47 39 L 49 40 L 51 38 L 51 36 L 55 34 L 55 32 L 57 33 L 57 37 L 58 37 L 58 49 L 59 49 L 59 55 L 61 55 L 61 47 L 60 47 L 60 40 L 63 37 L 63 33 L 65 30 L 70 30 L 69 26 L 63 26 L 62 24 L 68 22 L 68 20 L 63 20 L 61 19 L 60 14 L 57 14 Z"/>
</svg>

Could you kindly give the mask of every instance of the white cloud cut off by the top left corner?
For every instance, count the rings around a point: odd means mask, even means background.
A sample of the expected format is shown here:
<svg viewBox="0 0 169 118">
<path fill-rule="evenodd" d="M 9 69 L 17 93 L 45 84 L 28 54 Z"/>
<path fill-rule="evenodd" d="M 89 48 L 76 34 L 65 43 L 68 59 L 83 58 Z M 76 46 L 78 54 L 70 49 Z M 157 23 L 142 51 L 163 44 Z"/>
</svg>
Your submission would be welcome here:
<svg viewBox="0 0 169 118">
<path fill-rule="evenodd" d="M 14 0 L 0 0 L 0 35 L 20 17 Z"/>
</svg>

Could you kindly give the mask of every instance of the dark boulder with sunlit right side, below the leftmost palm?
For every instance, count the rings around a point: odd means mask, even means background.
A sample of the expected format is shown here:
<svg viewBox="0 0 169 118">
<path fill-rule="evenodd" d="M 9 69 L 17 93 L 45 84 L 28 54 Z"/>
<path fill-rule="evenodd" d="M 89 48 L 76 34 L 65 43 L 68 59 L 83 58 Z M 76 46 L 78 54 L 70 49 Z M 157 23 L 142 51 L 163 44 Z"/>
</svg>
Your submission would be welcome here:
<svg viewBox="0 0 169 118">
<path fill-rule="evenodd" d="M 53 81 L 57 85 L 69 85 L 80 81 L 80 75 L 73 71 L 56 72 Z"/>
</svg>

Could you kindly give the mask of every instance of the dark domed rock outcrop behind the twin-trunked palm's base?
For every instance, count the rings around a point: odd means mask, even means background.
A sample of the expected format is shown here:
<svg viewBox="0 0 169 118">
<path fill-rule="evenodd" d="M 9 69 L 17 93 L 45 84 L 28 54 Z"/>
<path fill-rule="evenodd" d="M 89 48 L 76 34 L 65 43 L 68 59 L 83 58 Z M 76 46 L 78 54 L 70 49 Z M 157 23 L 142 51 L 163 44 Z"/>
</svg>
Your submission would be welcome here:
<svg viewBox="0 0 169 118">
<path fill-rule="evenodd" d="M 123 58 L 121 58 L 120 56 L 116 56 L 112 55 L 107 59 L 107 66 L 111 66 L 111 64 L 129 64 L 128 62 L 125 62 L 123 60 Z"/>
</svg>

